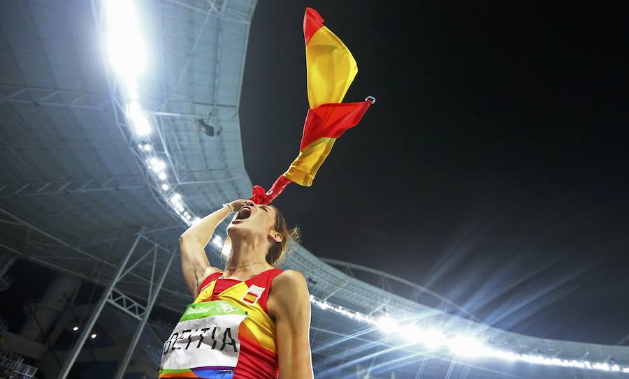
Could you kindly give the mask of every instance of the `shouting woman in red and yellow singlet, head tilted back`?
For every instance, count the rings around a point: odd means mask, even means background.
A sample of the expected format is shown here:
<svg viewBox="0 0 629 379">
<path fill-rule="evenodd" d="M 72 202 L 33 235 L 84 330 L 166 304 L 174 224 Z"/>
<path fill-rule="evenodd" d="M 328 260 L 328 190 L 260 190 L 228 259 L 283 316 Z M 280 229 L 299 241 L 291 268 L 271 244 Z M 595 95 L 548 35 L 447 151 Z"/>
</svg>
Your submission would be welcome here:
<svg viewBox="0 0 629 379">
<path fill-rule="evenodd" d="M 234 211 L 221 271 L 203 248 Z M 308 286 L 299 272 L 274 267 L 293 232 L 277 208 L 235 200 L 181 235 L 182 272 L 196 299 L 164 343 L 159 378 L 313 378 Z"/>
</svg>

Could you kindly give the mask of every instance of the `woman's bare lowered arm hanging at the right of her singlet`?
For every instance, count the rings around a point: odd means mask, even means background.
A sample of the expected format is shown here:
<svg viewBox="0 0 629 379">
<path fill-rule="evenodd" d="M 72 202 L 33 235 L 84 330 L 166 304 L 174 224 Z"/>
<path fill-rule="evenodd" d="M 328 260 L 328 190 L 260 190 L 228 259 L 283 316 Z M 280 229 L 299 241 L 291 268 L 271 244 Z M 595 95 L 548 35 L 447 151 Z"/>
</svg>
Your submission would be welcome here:
<svg viewBox="0 0 629 379">
<path fill-rule="evenodd" d="M 267 309 L 275 317 L 280 379 L 313 378 L 310 295 L 300 272 L 286 270 L 273 279 Z"/>
</svg>

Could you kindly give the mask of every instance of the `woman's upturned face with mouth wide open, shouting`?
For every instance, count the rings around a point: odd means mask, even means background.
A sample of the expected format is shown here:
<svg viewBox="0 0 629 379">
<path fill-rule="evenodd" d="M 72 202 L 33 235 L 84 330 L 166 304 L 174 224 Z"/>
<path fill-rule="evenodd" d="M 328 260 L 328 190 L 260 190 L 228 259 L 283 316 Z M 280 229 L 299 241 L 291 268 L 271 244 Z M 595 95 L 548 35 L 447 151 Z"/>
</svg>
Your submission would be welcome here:
<svg viewBox="0 0 629 379">
<path fill-rule="evenodd" d="M 268 236 L 275 228 L 275 209 L 268 205 L 256 205 L 248 200 L 246 205 L 236 209 L 236 214 L 227 226 L 231 239 L 245 236 Z"/>
</svg>

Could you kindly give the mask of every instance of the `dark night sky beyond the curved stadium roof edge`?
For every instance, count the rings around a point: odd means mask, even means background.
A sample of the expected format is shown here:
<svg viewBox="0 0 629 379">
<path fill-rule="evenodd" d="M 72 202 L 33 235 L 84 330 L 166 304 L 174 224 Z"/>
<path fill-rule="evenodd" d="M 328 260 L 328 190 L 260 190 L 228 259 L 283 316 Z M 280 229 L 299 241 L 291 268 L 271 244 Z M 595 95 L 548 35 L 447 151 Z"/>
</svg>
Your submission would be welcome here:
<svg viewBox="0 0 629 379">
<path fill-rule="evenodd" d="M 275 202 L 303 246 L 426 285 L 496 327 L 618 342 L 629 12 L 565 4 L 259 1 L 240 108 L 252 181 L 268 188 L 298 153 L 312 6 L 358 62 L 345 101 L 377 103 L 312 187 Z"/>
</svg>

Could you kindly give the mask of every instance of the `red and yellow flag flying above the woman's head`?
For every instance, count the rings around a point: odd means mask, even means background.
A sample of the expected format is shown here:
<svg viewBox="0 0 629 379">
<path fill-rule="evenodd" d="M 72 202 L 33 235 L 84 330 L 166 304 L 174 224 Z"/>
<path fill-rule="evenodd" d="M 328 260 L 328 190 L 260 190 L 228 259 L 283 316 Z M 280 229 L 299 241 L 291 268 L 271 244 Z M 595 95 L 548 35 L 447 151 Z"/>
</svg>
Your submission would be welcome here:
<svg viewBox="0 0 629 379">
<path fill-rule="evenodd" d="M 342 103 L 358 67 L 347 46 L 323 22 L 316 10 L 306 8 L 303 36 L 310 109 L 303 126 L 299 155 L 269 191 L 254 186 L 250 200 L 256 204 L 270 204 L 291 181 L 311 186 L 334 142 L 347 129 L 356 126 L 375 102 L 375 98 L 368 97 L 359 103 Z"/>
</svg>

